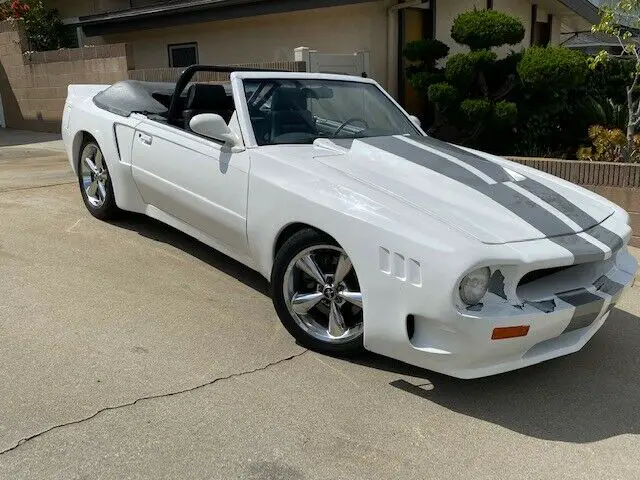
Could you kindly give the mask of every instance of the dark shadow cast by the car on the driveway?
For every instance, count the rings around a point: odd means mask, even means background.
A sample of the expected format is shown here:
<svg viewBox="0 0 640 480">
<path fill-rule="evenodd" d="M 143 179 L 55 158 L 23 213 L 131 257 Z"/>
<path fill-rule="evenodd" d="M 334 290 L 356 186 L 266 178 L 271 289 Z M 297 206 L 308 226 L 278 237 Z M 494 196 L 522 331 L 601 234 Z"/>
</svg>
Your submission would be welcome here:
<svg viewBox="0 0 640 480">
<path fill-rule="evenodd" d="M 112 223 L 178 248 L 269 295 L 261 275 L 161 222 L 127 214 Z M 619 309 L 580 352 L 478 380 L 458 380 L 374 354 L 347 361 L 423 379 L 390 385 L 531 437 L 588 443 L 640 434 L 640 318 Z"/>
</svg>

